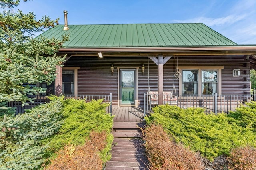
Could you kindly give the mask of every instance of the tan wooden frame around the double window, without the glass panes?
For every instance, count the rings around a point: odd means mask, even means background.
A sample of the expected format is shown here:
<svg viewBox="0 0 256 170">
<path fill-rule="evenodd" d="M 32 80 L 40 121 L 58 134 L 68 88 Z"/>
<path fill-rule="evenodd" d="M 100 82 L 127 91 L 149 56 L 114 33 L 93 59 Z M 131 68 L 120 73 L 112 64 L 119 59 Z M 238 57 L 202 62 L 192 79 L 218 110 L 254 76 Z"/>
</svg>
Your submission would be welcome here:
<svg viewBox="0 0 256 170">
<path fill-rule="evenodd" d="M 221 70 L 224 69 L 224 66 L 192 66 L 192 67 L 178 67 L 177 68 L 180 73 L 182 73 L 183 70 L 198 70 L 198 94 L 197 95 L 203 95 L 202 94 L 202 71 L 203 70 L 217 70 L 217 94 L 221 95 Z M 182 95 L 182 81 L 183 77 L 179 77 L 179 95 Z"/>
</svg>

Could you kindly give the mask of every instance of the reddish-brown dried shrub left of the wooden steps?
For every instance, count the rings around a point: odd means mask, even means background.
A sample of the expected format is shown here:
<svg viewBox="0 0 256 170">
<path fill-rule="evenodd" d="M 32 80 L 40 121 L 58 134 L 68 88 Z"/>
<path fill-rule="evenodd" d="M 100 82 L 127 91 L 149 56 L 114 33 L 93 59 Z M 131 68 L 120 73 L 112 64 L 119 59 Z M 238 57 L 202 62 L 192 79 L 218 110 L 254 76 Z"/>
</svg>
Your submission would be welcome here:
<svg viewBox="0 0 256 170">
<path fill-rule="evenodd" d="M 100 133 L 92 131 L 90 139 L 86 140 L 84 145 L 65 145 L 58 151 L 57 157 L 51 160 L 46 170 L 101 170 L 103 162 L 99 152 L 108 144 L 107 134 L 106 131 Z"/>
</svg>

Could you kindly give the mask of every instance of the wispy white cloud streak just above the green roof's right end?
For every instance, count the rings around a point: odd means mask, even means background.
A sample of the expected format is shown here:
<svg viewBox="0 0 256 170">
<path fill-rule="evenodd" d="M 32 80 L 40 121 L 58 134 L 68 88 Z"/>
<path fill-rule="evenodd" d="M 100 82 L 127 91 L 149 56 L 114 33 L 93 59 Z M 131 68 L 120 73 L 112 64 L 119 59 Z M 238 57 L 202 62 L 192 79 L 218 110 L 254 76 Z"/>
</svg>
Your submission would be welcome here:
<svg viewBox="0 0 256 170">
<path fill-rule="evenodd" d="M 221 18 L 208 18 L 208 17 L 197 17 L 188 20 L 174 20 L 174 22 L 178 23 L 204 23 L 207 26 L 223 26 L 223 25 L 231 25 L 240 20 L 244 20 L 246 18 L 246 14 L 242 15 L 229 15 Z"/>
</svg>

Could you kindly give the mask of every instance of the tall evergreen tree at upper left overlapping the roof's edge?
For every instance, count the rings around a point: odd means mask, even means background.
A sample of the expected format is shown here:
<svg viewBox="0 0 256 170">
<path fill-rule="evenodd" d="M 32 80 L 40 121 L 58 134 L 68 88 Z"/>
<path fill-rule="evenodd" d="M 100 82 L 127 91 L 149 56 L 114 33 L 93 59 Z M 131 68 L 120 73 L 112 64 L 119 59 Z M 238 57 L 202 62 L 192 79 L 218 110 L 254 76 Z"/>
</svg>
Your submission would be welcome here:
<svg viewBox="0 0 256 170">
<path fill-rule="evenodd" d="M 26 1 L 26 0 L 24 0 Z M 1 5 L 8 8 L 17 6 L 19 0 L 2 0 Z M 68 36 L 62 40 L 44 37 L 32 38 L 34 32 L 52 28 L 58 20 L 48 16 L 36 20 L 33 12 L 24 14 L 0 13 L 0 102 L 31 100 L 27 95 L 42 93 L 45 89 L 31 88 L 28 84 L 52 83 L 56 66 L 62 66 L 64 57 L 56 56 Z"/>
</svg>

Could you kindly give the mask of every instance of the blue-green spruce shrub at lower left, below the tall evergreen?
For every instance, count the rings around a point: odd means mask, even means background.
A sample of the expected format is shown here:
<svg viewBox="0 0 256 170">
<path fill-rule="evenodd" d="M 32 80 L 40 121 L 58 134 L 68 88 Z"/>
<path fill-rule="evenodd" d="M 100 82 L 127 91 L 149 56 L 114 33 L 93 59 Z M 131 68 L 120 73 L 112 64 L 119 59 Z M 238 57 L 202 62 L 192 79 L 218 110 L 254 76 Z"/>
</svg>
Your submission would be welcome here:
<svg viewBox="0 0 256 170">
<path fill-rule="evenodd" d="M 35 169 L 48 147 L 40 145 L 61 127 L 62 100 L 58 97 L 16 117 L 5 115 L 0 124 L 0 169 Z"/>
</svg>

